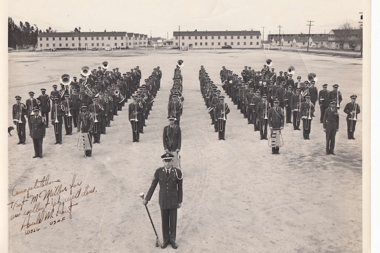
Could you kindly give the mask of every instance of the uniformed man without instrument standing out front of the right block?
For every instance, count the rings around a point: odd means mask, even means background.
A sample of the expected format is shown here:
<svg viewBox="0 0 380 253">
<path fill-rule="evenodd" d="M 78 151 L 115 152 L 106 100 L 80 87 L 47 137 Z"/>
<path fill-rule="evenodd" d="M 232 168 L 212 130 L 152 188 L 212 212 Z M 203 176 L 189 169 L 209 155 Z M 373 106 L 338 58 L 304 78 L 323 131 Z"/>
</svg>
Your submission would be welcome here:
<svg viewBox="0 0 380 253">
<path fill-rule="evenodd" d="M 335 154 L 335 134 L 339 131 L 339 113 L 335 101 L 330 102 L 330 108 L 324 113 L 324 131 L 326 132 L 326 154 Z"/>
</svg>

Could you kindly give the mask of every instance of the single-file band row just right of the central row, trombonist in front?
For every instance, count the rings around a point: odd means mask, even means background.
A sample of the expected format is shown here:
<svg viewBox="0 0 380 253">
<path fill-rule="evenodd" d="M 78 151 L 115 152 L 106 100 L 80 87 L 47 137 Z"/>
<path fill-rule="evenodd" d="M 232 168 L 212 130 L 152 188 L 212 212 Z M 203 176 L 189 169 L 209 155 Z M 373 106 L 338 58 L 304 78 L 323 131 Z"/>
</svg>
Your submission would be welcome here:
<svg viewBox="0 0 380 253">
<path fill-rule="evenodd" d="M 218 140 L 225 140 L 225 126 L 230 108 L 224 103 L 224 96 L 220 95 L 221 91 L 211 81 L 203 65 L 199 70 L 199 84 L 207 112 L 210 113 L 211 125 L 218 132 Z"/>
</svg>

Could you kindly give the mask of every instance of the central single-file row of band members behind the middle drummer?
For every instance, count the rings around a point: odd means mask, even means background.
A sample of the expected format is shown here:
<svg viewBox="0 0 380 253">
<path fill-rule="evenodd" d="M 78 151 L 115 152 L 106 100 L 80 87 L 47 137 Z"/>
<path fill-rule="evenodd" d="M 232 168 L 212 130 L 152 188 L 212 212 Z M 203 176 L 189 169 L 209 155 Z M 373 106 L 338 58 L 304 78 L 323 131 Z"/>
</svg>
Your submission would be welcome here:
<svg viewBox="0 0 380 253">
<path fill-rule="evenodd" d="M 173 117 L 175 119 L 174 124 L 177 126 L 180 125 L 183 102 L 185 100 L 182 95 L 182 66 L 183 61 L 179 60 L 174 69 L 173 87 L 170 88 L 169 102 L 167 105 L 167 115 L 168 117 Z"/>
</svg>

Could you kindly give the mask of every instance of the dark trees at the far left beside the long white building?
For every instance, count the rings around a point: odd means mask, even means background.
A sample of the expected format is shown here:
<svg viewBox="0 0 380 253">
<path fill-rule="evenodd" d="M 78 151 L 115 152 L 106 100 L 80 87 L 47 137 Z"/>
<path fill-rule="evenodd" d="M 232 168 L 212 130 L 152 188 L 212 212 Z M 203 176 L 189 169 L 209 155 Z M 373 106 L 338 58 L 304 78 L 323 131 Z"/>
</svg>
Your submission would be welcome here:
<svg viewBox="0 0 380 253">
<path fill-rule="evenodd" d="M 55 32 L 51 27 L 46 29 L 46 32 Z M 37 44 L 37 36 L 42 33 L 42 30 L 37 25 L 31 26 L 29 22 L 20 21 L 20 25 L 16 25 L 11 17 L 8 17 L 8 47 L 28 47 Z"/>
</svg>

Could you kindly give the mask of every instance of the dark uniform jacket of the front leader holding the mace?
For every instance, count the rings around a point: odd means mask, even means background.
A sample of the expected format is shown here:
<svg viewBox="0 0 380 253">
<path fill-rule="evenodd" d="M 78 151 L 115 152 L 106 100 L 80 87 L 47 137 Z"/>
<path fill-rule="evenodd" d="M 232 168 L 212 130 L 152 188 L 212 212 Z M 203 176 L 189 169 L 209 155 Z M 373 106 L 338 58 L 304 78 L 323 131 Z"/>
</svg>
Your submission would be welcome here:
<svg viewBox="0 0 380 253">
<path fill-rule="evenodd" d="M 174 170 L 177 171 L 178 178 Z M 153 181 L 150 185 L 145 199 L 150 200 L 157 184 L 160 183 L 159 204 L 161 209 L 175 209 L 178 203 L 182 203 L 182 171 L 173 167 L 170 169 L 169 177 L 166 176 L 165 167 L 156 170 Z"/>
</svg>

